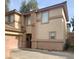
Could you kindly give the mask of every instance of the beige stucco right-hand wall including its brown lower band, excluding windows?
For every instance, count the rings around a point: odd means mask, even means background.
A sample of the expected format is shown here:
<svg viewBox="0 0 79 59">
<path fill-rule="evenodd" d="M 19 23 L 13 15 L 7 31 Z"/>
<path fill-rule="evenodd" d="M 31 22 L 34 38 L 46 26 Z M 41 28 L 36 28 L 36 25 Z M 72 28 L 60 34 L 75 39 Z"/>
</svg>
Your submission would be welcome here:
<svg viewBox="0 0 79 59">
<path fill-rule="evenodd" d="M 37 14 L 36 39 L 32 40 L 32 48 L 63 50 L 66 39 L 66 18 L 63 8 L 52 9 L 48 11 L 49 21 L 42 23 L 42 12 Z M 49 38 L 49 32 L 56 32 L 55 39 Z"/>
</svg>

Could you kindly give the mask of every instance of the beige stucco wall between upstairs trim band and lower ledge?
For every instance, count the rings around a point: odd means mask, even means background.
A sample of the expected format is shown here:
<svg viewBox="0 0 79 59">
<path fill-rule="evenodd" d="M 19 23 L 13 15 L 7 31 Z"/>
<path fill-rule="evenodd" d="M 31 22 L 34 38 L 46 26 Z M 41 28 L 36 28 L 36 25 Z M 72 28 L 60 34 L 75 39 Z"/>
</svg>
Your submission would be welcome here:
<svg viewBox="0 0 79 59">
<path fill-rule="evenodd" d="M 38 40 L 48 40 L 49 32 L 56 32 L 56 40 L 63 40 L 63 23 L 62 18 L 52 19 L 48 24 L 41 24 L 41 22 L 37 23 L 36 28 L 36 37 Z"/>
</svg>

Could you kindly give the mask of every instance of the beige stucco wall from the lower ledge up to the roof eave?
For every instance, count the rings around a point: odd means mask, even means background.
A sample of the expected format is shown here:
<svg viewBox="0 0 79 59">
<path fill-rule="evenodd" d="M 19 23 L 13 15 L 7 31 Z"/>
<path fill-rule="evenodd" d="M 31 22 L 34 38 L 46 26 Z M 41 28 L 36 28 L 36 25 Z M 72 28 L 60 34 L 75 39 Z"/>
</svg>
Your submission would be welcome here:
<svg viewBox="0 0 79 59">
<path fill-rule="evenodd" d="M 65 19 L 63 18 L 63 8 L 49 10 L 49 22 L 43 24 L 40 21 L 36 23 L 36 38 L 38 40 L 49 40 L 49 32 L 56 32 L 56 40 L 63 40 L 65 31 Z M 40 16 L 39 16 L 40 17 Z M 39 18 L 38 17 L 38 18 Z"/>
</svg>

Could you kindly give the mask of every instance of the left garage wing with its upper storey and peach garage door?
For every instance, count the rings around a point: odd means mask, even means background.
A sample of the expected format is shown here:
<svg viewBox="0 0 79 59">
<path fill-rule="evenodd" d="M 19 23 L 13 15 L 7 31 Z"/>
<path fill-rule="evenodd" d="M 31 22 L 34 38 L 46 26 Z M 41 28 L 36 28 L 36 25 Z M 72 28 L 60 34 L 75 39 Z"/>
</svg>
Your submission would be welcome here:
<svg viewBox="0 0 79 59">
<path fill-rule="evenodd" d="M 23 32 L 18 26 L 20 15 L 14 12 L 6 13 L 5 17 L 5 51 L 6 58 L 10 57 L 12 49 L 20 48 L 20 39 L 22 39 Z M 15 21 L 16 20 L 16 21 Z M 18 23 L 18 24 L 17 24 Z"/>
</svg>

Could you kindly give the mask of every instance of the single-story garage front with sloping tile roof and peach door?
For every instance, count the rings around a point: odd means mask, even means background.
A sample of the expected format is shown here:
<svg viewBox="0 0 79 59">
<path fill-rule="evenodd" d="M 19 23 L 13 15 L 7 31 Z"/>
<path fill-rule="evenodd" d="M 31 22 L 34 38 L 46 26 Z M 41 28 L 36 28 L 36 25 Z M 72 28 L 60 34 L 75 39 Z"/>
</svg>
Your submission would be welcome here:
<svg viewBox="0 0 79 59">
<path fill-rule="evenodd" d="M 10 56 L 10 52 L 12 49 L 20 47 L 19 40 L 21 39 L 23 33 L 20 30 L 15 29 L 12 26 L 5 24 L 5 51 L 6 56 Z"/>
</svg>

